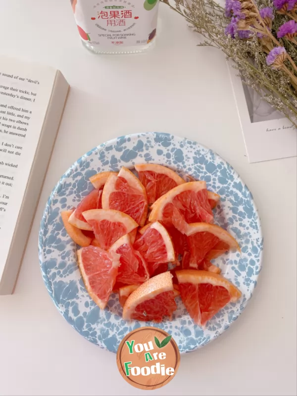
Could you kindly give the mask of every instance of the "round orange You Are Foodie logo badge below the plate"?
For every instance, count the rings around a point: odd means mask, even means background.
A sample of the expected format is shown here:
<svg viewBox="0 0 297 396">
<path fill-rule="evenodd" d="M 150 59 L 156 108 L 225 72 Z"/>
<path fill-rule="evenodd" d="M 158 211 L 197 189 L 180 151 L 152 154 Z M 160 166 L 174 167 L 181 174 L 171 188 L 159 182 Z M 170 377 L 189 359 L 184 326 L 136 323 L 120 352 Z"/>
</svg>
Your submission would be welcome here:
<svg viewBox="0 0 297 396">
<path fill-rule="evenodd" d="M 140 327 L 122 340 L 117 351 L 122 377 L 139 389 L 158 389 L 176 375 L 180 352 L 172 336 L 155 327 Z"/>
</svg>

